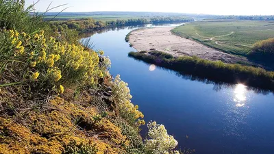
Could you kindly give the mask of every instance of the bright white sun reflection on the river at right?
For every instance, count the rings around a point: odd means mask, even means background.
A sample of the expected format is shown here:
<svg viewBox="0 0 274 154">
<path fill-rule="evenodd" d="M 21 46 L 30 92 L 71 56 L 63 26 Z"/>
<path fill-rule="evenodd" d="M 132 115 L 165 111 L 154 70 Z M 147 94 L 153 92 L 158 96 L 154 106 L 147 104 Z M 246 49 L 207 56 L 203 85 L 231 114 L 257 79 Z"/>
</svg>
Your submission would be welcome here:
<svg viewBox="0 0 274 154">
<path fill-rule="evenodd" d="M 247 97 L 245 92 L 247 91 L 247 86 L 243 84 L 238 84 L 234 89 L 234 102 L 236 102 L 236 107 L 245 106 L 245 101 Z"/>
</svg>

